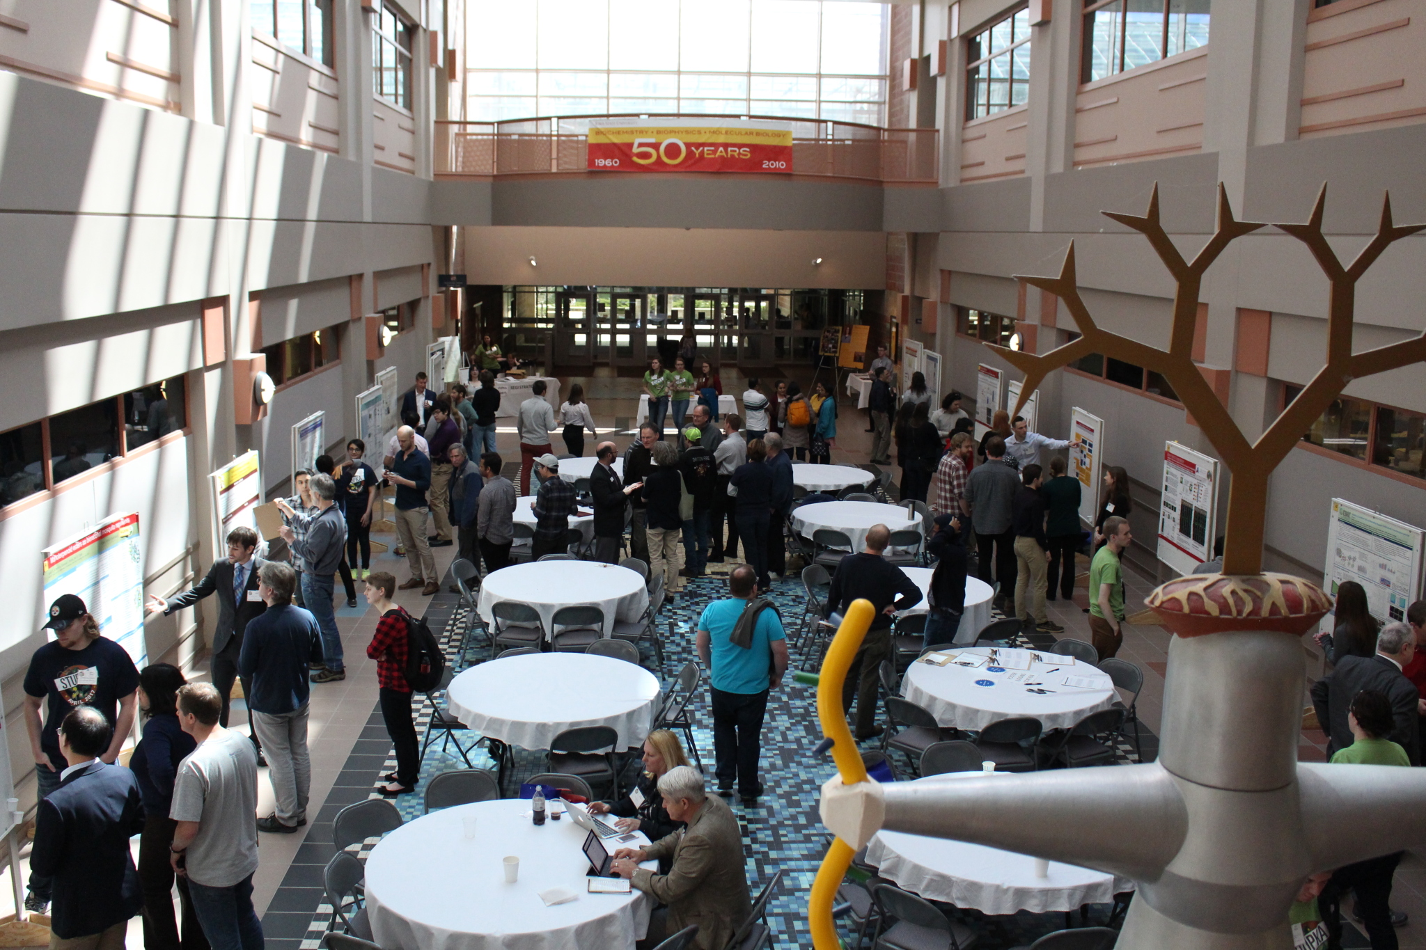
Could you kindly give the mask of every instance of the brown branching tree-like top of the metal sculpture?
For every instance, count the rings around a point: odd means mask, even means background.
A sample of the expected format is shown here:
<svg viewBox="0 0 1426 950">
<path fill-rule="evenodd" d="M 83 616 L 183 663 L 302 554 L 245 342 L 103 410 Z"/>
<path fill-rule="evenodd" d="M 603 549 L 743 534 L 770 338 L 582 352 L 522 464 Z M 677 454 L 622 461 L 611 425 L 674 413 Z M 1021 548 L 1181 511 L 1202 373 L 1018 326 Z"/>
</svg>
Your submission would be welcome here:
<svg viewBox="0 0 1426 950">
<path fill-rule="evenodd" d="M 987 343 L 987 346 L 1025 373 L 1025 382 L 1020 390 L 1020 403 L 1015 404 L 1015 413 L 1012 414 L 1020 413 L 1025 400 L 1051 370 L 1062 369 L 1091 353 L 1102 353 L 1114 359 L 1135 363 L 1168 379 L 1169 385 L 1178 393 L 1179 400 L 1202 426 L 1204 434 L 1212 443 L 1214 449 L 1218 450 L 1224 464 L 1232 473 L 1228 493 L 1228 530 L 1224 543 L 1224 574 L 1256 574 L 1262 570 L 1263 513 L 1266 511 L 1268 479 L 1272 477 L 1278 464 L 1292 451 L 1292 447 L 1312 424 L 1312 420 L 1326 412 L 1332 400 L 1353 379 L 1409 366 L 1426 359 L 1426 333 L 1363 353 L 1352 352 L 1356 282 L 1362 279 L 1366 269 L 1382 256 L 1382 252 L 1392 242 L 1426 229 L 1426 224 L 1402 228 L 1393 226 L 1392 199 L 1387 195 L 1382 201 L 1382 222 L 1378 226 L 1376 235 L 1356 255 L 1356 259 L 1350 265 L 1343 266 L 1322 234 L 1322 209 L 1326 202 L 1326 194 L 1328 187 L 1323 184 L 1306 224 L 1273 225 L 1306 244 L 1318 266 L 1322 268 L 1322 272 L 1332 283 L 1332 296 L 1328 308 L 1326 365 L 1255 443 L 1249 443 L 1248 437 L 1243 436 L 1238 423 L 1229 414 L 1228 407 L 1218 399 L 1218 395 L 1198 370 L 1192 356 L 1194 325 L 1198 319 L 1198 291 L 1204 279 L 1204 272 L 1208 271 L 1209 265 L 1218 259 L 1218 255 L 1233 239 L 1266 226 L 1263 224 L 1233 219 L 1233 212 L 1228 205 L 1228 195 L 1224 192 L 1222 185 L 1218 187 L 1218 226 L 1214 236 L 1208 239 L 1208 244 L 1204 245 L 1192 261 L 1184 259 L 1184 255 L 1179 254 L 1178 248 L 1169 239 L 1168 232 L 1164 231 L 1164 225 L 1159 224 L 1158 185 L 1154 185 L 1148 212 L 1142 218 L 1112 211 L 1104 212 L 1107 218 L 1134 228 L 1148 238 L 1164 266 L 1174 276 L 1176 291 L 1174 293 L 1174 325 L 1169 333 L 1168 350 L 1111 333 L 1094 322 L 1089 309 L 1079 296 L 1079 286 L 1075 281 L 1072 241 L 1070 242 L 1070 249 L 1065 252 L 1058 278 L 1017 275 L 1017 279 L 1054 293 L 1064 301 L 1082 336 L 1044 355 L 1025 353 Z"/>
</svg>

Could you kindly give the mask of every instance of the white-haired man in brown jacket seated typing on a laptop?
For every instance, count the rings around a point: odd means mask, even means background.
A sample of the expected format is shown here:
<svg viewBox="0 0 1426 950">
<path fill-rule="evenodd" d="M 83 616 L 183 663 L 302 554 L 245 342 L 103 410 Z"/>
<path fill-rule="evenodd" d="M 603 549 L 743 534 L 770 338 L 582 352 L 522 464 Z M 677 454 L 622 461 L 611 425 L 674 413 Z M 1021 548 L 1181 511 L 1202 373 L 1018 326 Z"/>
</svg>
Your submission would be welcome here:
<svg viewBox="0 0 1426 950">
<path fill-rule="evenodd" d="M 723 950 L 752 910 L 737 818 L 723 799 L 709 796 L 703 775 L 689 765 L 665 772 L 659 795 L 669 818 L 684 828 L 649 847 L 615 852 L 615 873 L 667 907 L 666 916 L 653 913 L 639 946 L 656 946 L 696 923 L 699 933 L 690 946 Z M 667 875 L 639 867 L 639 862 L 665 857 L 672 860 Z"/>
</svg>

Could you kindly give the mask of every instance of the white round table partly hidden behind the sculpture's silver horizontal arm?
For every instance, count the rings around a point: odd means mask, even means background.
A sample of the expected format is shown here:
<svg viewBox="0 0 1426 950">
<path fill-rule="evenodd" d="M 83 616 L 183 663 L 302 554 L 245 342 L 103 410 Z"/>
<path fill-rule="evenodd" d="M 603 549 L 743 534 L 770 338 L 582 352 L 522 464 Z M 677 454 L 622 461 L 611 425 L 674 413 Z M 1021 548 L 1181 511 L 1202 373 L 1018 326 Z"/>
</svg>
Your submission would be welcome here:
<svg viewBox="0 0 1426 950">
<path fill-rule="evenodd" d="M 933 775 L 918 782 L 945 782 L 984 772 Z M 987 914 L 1018 910 L 1045 913 L 1107 904 L 1114 894 L 1134 890 L 1134 883 L 1104 872 L 1050 862 L 1050 876 L 1035 876 L 1035 859 L 985 845 L 903 832 L 877 832 L 867 845 L 867 860 L 878 875 L 927 900 Z"/>
</svg>

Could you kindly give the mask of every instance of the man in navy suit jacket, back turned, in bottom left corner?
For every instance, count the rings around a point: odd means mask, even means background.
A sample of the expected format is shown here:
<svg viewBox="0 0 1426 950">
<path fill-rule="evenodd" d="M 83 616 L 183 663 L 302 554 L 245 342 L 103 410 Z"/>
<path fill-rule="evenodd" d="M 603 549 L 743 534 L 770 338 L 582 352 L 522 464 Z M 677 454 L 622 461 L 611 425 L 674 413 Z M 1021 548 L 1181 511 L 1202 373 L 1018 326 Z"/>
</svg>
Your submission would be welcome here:
<svg viewBox="0 0 1426 950">
<path fill-rule="evenodd" d="M 104 765 L 111 729 L 91 706 L 77 706 L 60 724 L 60 752 L 68 768 L 60 788 L 40 802 L 30 852 L 31 882 L 53 879 L 50 947 L 123 950 L 128 919 L 144 906 L 128 839 L 144 828 L 138 781 Z"/>
</svg>

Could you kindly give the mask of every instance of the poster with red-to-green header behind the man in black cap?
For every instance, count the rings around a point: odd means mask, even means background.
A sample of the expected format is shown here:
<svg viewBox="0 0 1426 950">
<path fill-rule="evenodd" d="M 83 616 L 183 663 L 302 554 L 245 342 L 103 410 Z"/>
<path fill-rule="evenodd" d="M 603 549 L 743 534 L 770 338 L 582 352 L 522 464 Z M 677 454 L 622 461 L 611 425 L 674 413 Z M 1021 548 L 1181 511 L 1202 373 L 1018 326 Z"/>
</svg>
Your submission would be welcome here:
<svg viewBox="0 0 1426 950">
<path fill-rule="evenodd" d="M 144 645 L 144 553 L 138 544 L 138 514 L 111 514 L 97 526 L 47 547 L 44 602 L 76 594 L 98 621 L 98 631 L 123 647 L 134 665 L 148 665 Z M 46 631 L 54 640 L 54 631 Z M 71 674 L 66 692 L 83 705 L 98 682 L 94 669 Z M 90 677 L 90 678 L 86 678 Z"/>
</svg>

